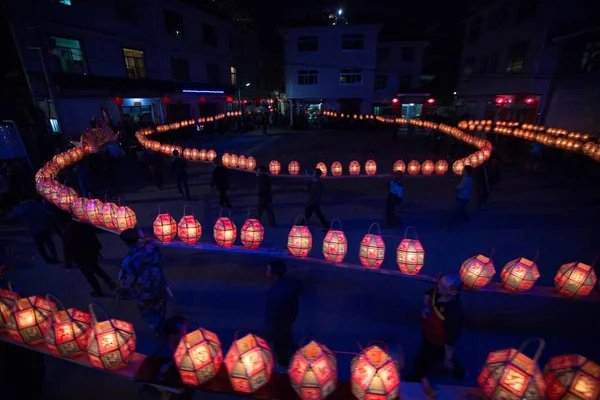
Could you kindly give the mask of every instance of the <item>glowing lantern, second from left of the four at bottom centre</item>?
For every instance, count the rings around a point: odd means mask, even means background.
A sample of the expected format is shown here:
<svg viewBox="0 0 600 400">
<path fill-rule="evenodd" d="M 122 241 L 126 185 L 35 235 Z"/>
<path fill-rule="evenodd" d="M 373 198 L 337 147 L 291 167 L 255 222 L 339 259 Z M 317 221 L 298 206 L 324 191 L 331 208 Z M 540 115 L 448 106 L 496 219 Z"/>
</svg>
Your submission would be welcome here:
<svg viewBox="0 0 600 400">
<path fill-rule="evenodd" d="M 266 385 L 273 372 L 273 355 L 267 342 L 249 333 L 235 339 L 225 356 L 225 368 L 233 390 L 253 393 Z"/>
</svg>

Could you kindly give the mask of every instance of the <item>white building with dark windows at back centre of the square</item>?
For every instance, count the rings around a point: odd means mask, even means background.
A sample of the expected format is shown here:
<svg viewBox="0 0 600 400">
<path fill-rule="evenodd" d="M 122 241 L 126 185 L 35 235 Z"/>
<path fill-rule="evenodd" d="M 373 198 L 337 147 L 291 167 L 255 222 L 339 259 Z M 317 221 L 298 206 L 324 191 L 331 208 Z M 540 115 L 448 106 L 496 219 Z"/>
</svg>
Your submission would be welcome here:
<svg viewBox="0 0 600 400">
<path fill-rule="evenodd" d="M 418 84 L 426 43 L 379 44 L 379 31 L 351 24 L 283 29 L 286 95 L 295 113 L 303 107 L 350 114 L 395 107 L 399 113 L 399 89 Z"/>
</svg>

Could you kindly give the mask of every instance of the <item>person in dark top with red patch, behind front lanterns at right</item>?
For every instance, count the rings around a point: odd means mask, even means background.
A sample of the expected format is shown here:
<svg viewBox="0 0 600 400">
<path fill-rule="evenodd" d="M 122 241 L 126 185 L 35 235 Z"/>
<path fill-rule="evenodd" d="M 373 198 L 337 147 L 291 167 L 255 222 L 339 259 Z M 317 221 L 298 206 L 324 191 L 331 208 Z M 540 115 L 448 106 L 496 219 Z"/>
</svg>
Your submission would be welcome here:
<svg viewBox="0 0 600 400">
<path fill-rule="evenodd" d="M 435 398 L 435 391 L 427 379 L 427 374 L 437 362 L 456 380 L 462 380 L 465 369 L 454 353 L 454 346 L 463 329 L 464 313 L 460 303 L 462 280 L 455 275 L 444 275 L 437 287 L 425 292 L 425 308 L 421 313 L 423 341 L 417 353 L 412 372 L 406 375 L 409 382 L 422 382 L 426 398 Z"/>
</svg>

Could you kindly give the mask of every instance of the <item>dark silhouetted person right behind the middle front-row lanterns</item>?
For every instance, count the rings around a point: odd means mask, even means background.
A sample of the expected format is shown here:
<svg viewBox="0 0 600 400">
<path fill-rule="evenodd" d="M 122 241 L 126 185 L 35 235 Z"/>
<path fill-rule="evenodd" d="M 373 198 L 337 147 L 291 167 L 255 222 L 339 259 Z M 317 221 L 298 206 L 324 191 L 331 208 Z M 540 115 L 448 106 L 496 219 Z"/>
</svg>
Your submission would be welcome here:
<svg viewBox="0 0 600 400">
<path fill-rule="evenodd" d="M 265 310 L 265 337 L 273 343 L 275 361 L 285 368 L 298 349 L 292 338 L 292 326 L 302 294 L 302 283 L 286 272 L 287 266 L 282 260 L 273 260 L 267 265 L 267 277 L 275 283 L 267 291 Z"/>
</svg>

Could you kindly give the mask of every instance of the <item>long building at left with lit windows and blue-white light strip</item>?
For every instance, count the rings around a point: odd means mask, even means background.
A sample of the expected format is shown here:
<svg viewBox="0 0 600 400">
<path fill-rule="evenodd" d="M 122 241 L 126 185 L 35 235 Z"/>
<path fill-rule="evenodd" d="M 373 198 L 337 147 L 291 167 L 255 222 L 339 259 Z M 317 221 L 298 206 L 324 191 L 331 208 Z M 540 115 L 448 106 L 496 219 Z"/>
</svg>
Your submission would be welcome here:
<svg viewBox="0 0 600 400">
<path fill-rule="evenodd" d="M 56 133 L 79 135 L 92 117 L 119 125 L 213 115 L 236 107 L 242 88 L 268 93 L 253 35 L 176 0 L 9 0 L 8 10 Z"/>
</svg>

